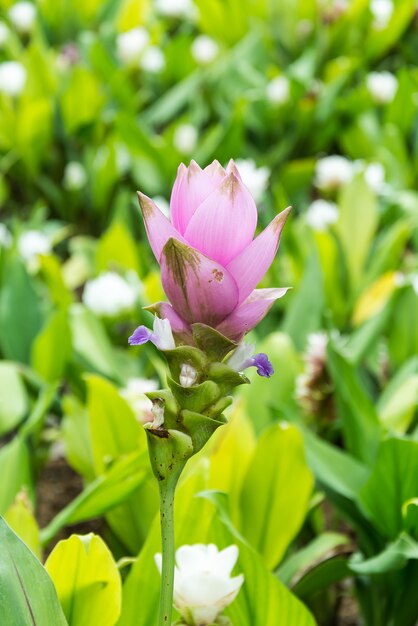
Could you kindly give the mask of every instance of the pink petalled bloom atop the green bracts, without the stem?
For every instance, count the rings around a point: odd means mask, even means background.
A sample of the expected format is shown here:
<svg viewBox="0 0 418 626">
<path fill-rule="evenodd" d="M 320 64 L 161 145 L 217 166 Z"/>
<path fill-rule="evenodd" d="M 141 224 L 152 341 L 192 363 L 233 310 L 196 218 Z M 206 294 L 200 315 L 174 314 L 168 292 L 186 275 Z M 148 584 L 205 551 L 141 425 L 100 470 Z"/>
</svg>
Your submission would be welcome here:
<svg viewBox="0 0 418 626">
<path fill-rule="evenodd" d="M 287 289 L 256 289 L 276 255 L 290 208 L 254 239 L 257 208 L 231 160 L 202 170 L 181 164 L 171 194 L 171 220 L 138 193 L 151 248 L 170 301 L 154 310 L 185 333 L 201 322 L 239 341 Z"/>
</svg>

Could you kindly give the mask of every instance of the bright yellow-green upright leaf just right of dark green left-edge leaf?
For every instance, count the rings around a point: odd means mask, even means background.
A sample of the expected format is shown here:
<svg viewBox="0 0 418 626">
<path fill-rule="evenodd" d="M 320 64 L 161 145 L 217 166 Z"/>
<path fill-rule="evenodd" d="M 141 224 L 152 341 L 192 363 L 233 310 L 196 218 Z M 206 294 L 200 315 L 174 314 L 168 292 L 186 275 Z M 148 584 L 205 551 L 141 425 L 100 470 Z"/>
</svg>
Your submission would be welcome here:
<svg viewBox="0 0 418 626">
<path fill-rule="evenodd" d="M 57 346 L 60 347 L 57 350 Z M 32 345 L 32 367 L 45 380 L 62 378 L 71 356 L 71 332 L 66 311 L 57 311 Z"/>
</svg>

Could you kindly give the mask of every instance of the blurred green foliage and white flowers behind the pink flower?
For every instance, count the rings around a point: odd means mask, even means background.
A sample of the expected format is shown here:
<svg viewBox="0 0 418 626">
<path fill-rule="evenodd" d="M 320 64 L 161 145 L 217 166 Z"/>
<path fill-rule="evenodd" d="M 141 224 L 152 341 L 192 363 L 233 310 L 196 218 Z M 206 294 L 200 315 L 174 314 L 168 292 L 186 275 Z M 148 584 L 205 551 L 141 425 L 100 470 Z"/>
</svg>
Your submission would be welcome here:
<svg viewBox="0 0 418 626">
<path fill-rule="evenodd" d="M 127 337 L 163 294 L 135 190 L 168 212 L 181 161 L 231 157 L 260 228 L 293 206 L 263 283 L 293 289 L 178 543 L 239 543 L 235 626 L 313 623 L 283 585 L 318 624 L 416 623 L 417 59 L 415 0 L 0 0 L 0 513 L 39 557 L 104 537 L 113 599 L 68 623 L 155 619 L 164 364 Z"/>
</svg>

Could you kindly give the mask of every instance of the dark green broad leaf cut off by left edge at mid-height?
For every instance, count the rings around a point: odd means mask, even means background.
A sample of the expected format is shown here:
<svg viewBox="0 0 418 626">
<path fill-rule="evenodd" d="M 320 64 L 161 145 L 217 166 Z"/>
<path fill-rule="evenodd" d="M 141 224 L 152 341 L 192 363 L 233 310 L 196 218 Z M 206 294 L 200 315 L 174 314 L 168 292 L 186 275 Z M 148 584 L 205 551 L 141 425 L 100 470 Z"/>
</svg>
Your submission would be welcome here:
<svg viewBox="0 0 418 626">
<path fill-rule="evenodd" d="M 0 346 L 6 358 L 28 363 L 42 325 L 40 299 L 24 265 L 10 259 L 0 295 Z"/>
</svg>

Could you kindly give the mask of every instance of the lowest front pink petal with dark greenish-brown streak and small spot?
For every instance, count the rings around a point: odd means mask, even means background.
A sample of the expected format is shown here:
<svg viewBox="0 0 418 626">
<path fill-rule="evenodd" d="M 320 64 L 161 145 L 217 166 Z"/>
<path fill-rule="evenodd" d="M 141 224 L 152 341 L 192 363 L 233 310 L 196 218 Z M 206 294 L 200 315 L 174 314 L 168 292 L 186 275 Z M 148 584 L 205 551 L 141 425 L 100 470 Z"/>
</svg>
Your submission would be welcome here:
<svg viewBox="0 0 418 626">
<path fill-rule="evenodd" d="M 238 287 L 225 268 L 177 239 L 164 246 L 161 280 L 173 308 L 190 324 L 215 326 L 238 302 Z"/>
</svg>

